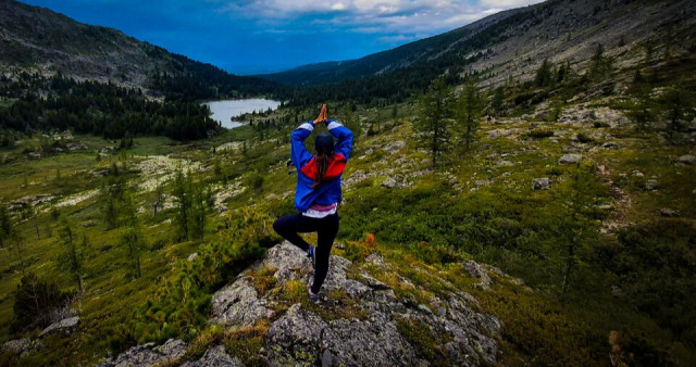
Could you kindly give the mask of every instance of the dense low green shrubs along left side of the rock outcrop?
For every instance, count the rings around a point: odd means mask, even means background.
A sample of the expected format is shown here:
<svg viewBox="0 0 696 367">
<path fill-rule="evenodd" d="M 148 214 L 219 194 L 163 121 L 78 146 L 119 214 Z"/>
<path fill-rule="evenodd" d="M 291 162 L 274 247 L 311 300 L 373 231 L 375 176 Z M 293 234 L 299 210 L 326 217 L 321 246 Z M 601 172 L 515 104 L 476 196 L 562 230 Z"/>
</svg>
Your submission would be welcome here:
<svg viewBox="0 0 696 367">
<path fill-rule="evenodd" d="M 212 293 L 260 258 L 266 243 L 277 240 L 271 223 L 268 215 L 256 210 L 231 212 L 221 238 L 201 245 L 192 262 L 176 263 L 174 274 L 163 279 L 158 294 L 116 332 L 112 347 L 195 338 L 207 324 Z"/>
</svg>

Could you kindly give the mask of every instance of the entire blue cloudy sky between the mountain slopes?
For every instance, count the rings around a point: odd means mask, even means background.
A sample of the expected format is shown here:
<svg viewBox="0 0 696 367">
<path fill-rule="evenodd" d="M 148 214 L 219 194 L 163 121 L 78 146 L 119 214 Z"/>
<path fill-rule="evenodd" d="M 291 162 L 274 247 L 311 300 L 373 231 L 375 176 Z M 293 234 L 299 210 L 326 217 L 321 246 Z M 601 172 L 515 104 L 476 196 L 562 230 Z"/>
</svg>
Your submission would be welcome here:
<svg viewBox="0 0 696 367">
<path fill-rule="evenodd" d="M 543 0 L 22 0 L 238 75 L 391 49 Z"/>
</svg>

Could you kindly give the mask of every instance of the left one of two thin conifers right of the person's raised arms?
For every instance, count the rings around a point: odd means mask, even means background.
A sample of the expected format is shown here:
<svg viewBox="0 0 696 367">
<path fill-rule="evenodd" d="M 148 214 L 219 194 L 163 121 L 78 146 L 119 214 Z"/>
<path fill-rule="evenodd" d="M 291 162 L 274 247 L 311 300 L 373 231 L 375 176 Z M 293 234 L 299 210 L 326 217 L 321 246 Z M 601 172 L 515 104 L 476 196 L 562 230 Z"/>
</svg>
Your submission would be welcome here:
<svg viewBox="0 0 696 367">
<path fill-rule="evenodd" d="M 428 92 L 421 98 L 420 121 L 413 126 L 425 136 L 424 142 L 431 151 L 433 168 L 437 168 L 439 155 L 449 142 L 447 97 L 447 87 L 443 78 L 435 79 Z"/>
</svg>

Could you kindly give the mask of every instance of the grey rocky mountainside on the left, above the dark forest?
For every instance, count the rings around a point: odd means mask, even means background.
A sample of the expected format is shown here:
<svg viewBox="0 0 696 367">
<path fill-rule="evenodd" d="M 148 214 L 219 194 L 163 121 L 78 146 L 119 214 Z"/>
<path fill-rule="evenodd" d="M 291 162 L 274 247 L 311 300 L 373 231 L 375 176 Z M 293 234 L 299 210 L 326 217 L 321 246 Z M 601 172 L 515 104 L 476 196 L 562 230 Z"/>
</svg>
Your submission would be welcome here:
<svg viewBox="0 0 696 367">
<path fill-rule="evenodd" d="M 120 30 L 75 22 L 48 9 L 0 0 L 0 73 L 62 73 L 77 79 L 150 87 L 156 73 L 194 75 L 227 90 L 265 92 L 273 83 L 231 75 L 139 41 Z"/>
</svg>

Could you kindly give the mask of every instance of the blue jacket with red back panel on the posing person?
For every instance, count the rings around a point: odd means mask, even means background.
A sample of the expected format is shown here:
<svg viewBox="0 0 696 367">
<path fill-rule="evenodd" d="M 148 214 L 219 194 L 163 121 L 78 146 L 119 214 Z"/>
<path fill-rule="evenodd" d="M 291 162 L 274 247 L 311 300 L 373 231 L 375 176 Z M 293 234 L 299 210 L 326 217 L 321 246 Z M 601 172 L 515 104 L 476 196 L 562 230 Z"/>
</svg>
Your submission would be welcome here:
<svg viewBox="0 0 696 367">
<path fill-rule="evenodd" d="M 333 119 L 327 122 L 327 126 L 328 132 L 337 141 L 324 179 L 314 189 L 312 189 L 314 177 L 316 177 L 314 155 L 304 148 L 304 140 L 312 135 L 314 125 L 311 122 L 304 123 L 290 135 L 290 154 L 297 168 L 295 208 L 302 213 L 307 212 L 314 203 L 331 205 L 340 202 L 340 178 L 352 151 L 352 131 Z"/>
</svg>

